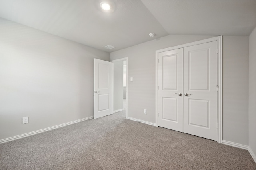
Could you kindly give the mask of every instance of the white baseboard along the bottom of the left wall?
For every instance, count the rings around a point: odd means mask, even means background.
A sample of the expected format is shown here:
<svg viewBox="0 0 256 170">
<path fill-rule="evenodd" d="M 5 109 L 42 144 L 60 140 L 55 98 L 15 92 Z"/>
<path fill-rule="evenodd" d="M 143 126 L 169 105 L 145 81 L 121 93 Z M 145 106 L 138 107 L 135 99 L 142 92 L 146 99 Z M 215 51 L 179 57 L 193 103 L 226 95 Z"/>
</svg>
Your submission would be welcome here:
<svg viewBox="0 0 256 170">
<path fill-rule="evenodd" d="M 63 124 L 52 126 L 52 127 L 47 127 L 47 128 L 40 129 L 40 130 L 37 130 L 37 131 L 29 132 L 29 133 L 24 133 L 22 135 L 17 135 L 17 136 L 14 136 L 14 137 L 9 137 L 9 138 L 6 138 L 6 139 L 2 139 L 2 140 L 0 140 L 0 144 L 1 143 L 6 143 L 6 142 L 9 142 L 9 141 L 13 141 L 13 140 L 16 140 L 16 139 L 20 139 L 20 138 L 23 138 L 23 137 L 28 137 L 28 136 L 31 136 L 31 135 L 35 135 L 37 133 L 42 133 L 42 132 L 45 132 L 45 131 L 56 129 L 56 128 L 59 128 L 59 127 L 71 125 L 71 124 L 78 123 L 78 122 L 81 122 L 81 121 L 89 120 L 89 119 L 93 119 L 93 116 L 86 117 L 86 118 L 79 119 L 79 120 L 75 120 L 75 121 L 70 121 L 68 123 L 63 123 Z"/>
</svg>

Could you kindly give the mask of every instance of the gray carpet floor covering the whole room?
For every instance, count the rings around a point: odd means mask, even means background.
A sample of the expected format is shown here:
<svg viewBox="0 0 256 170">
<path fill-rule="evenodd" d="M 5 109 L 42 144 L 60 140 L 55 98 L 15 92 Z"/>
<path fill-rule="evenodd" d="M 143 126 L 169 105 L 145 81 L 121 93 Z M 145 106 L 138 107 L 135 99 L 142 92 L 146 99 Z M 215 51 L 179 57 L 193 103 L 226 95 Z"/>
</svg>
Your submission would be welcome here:
<svg viewBox="0 0 256 170">
<path fill-rule="evenodd" d="M 249 152 L 125 111 L 0 144 L 1 170 L 256 170 Z"/>
</svg>

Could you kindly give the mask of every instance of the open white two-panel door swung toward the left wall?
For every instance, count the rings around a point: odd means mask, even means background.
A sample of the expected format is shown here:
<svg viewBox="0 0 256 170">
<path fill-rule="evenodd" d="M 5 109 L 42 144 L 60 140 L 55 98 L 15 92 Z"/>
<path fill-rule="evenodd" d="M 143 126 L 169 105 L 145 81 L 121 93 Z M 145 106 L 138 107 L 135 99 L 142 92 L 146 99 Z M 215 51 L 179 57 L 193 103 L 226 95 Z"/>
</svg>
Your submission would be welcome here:
<svg viewBox="0 0 256 170">
<path fill-rule="evenodd" d="M 112 114 L 112 63 L 94 59 L 94 119 Z"/>
</svg>

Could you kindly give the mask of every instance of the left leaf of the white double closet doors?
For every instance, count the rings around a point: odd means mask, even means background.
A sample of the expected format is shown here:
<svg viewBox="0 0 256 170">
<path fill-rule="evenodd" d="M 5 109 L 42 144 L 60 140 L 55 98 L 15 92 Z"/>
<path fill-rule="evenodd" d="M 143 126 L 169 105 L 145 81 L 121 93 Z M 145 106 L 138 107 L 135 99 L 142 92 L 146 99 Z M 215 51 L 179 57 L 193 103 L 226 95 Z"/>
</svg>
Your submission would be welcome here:
<svg viewBox="0 0 256 170">
<path fill-rule="evenodd" d="M 158 126 L 183 131 L 183 49 L 158 55 Z"/>
</svg>

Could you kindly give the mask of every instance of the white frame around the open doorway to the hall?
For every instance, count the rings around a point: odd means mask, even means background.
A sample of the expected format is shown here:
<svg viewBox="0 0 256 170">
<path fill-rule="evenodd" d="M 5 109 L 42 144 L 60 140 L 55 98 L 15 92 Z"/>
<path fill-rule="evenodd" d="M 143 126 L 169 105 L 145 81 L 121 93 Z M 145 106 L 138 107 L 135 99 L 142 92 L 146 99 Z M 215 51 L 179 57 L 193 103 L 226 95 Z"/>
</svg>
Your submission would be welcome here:
<svg viewBox="0 0 256 170">
<path fill-rule="evenodd" d="M 112 62 L 112 96 L 114 96 L 114 63 L 118 61 L 126 60 L 126 119 L 128 117 L 128 57 L 124 57 L 121 59 L 111 60 Z M 112 97 L 112 108 L 114 108 L 114 97 Z M 112 114 L 114 114 L 114 110 L 112 109 Z"/>
</svg>

